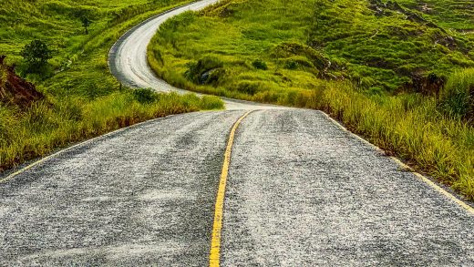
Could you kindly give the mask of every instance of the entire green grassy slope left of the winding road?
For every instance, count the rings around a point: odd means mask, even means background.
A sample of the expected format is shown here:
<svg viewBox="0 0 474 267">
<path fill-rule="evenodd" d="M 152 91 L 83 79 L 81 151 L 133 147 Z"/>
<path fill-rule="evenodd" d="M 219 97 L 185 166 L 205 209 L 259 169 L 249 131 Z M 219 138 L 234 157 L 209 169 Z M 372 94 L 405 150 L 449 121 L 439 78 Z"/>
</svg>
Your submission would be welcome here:
<svg viewBox="0 0 474 267">
<path fill-rule="evenodd" d="M 108 71 L 119 36 L 188 2 L 2 1 L 0 171 L 149 118 L 222 108 L 219 98 L 130 90 Z"/>
</svg>

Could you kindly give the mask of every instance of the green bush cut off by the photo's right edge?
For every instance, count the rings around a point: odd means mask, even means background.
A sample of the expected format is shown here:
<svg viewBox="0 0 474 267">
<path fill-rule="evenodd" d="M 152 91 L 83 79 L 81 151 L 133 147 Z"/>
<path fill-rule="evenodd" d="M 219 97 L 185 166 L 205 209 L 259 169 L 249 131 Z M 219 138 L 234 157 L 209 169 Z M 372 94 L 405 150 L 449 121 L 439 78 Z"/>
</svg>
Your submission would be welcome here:
<svg viewBox="0 0 474 267">
<path fill-rule="evenodd" d="M 463 69 L 448 77 L 440 93 L 440 107 L 450 116 L 474 119 L 474 68 Z"/>
</svg>

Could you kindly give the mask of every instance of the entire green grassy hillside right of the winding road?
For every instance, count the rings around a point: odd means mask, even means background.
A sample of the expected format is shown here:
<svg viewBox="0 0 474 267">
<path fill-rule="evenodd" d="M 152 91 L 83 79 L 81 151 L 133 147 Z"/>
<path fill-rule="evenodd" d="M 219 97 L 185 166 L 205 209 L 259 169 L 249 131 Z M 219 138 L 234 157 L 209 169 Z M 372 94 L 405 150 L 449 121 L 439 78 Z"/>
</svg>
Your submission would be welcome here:
<svg viewBox="0 0 474 267">
<path fill-rule="evenodd" d="M 149 46 L 194 91 L 325 110 L 474 200 L 469 1 L 224 0 L 177 16 Z"/>
</svg>

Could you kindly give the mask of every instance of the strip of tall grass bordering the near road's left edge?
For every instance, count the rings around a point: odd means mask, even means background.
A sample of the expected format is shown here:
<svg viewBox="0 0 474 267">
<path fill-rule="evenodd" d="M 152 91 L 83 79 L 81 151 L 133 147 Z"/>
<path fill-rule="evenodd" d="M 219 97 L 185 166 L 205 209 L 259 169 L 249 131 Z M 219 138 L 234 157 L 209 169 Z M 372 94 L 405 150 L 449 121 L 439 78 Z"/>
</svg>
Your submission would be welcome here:
<svg viewBox="0 0 474 267">
<path fill-rule="evenodd" d="M 93 102 L 77 97 L 39 101 L 23 111 L 0 105 L 0 169 L 150 118 L 214 108 L 223 108 L 220 98 L 149 89 L 117 91 Z"/>
</svg>

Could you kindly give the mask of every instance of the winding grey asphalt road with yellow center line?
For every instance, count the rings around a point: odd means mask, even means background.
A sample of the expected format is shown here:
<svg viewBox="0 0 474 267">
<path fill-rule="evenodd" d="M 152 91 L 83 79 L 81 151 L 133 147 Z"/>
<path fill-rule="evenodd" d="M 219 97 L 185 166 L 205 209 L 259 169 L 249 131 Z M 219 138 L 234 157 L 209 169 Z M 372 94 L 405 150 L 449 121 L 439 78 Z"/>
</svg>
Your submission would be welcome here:
<svg viewBox="0 0 474 267">
<path fill-rule="evenodd" d="M 173 89 L 141 58 L 149 37 L 212 2 L 129 32 L 111 52 L 114 74 Z M 3 179 L 0 265 L 474 266 L 469 206 L 322 112 L 227 103 L 92 139 Z"/>
</svg>

